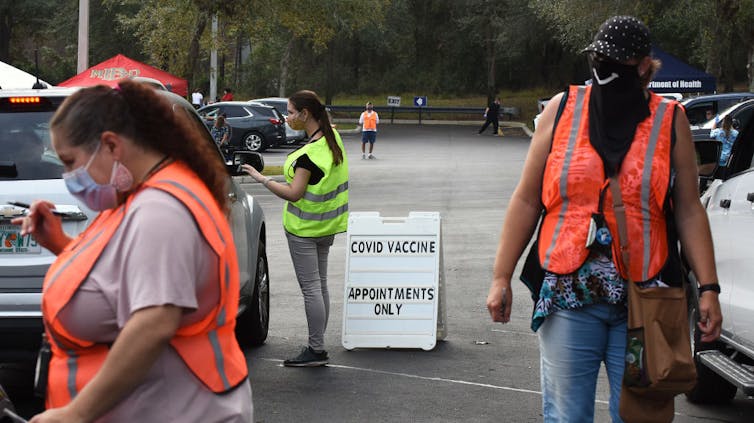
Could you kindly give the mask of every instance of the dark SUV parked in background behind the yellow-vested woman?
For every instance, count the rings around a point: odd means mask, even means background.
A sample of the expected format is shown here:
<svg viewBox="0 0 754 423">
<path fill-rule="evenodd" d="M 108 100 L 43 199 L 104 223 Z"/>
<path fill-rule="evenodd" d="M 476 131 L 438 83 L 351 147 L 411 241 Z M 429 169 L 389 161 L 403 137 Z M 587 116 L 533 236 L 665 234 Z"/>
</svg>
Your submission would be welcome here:
<svg viewBox="0 0 754 423">
<path fill-rule="evenodd" d="M 262 152 L 285 143 L 285 118 L 274 107 L 243 101 L 222 101 L 197 110 L 208 127 L 225 114 L 230 149 Z"/>
</svg>

